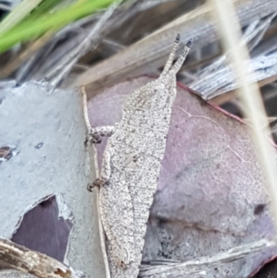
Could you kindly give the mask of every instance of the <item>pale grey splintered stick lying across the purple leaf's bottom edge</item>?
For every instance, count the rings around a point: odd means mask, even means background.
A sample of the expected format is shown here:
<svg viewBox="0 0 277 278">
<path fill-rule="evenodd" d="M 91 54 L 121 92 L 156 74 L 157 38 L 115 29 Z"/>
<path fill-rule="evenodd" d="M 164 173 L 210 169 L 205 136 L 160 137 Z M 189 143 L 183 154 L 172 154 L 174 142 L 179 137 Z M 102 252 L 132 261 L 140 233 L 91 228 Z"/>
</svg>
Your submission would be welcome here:
<svg viewBox="0 0 277 278">
<path fill-rule="evenodd" d="M 214 268 L 215 266 L 237 261 L 238 259 L 244 258 L 248 254 L 253 254 L 253 252 L 262 251 L 274 246 L 276 246 L 274 241 L 261 239 L 260 241 L 255 241 L 253 243 L 233 247 L 225 252 L 220 252 L 213 256 L 201 257 L 184 263 L 168 263 L 167 266 L 143 265 L 139 277 L 174 278 L 186 277 L 187 275 L 190 277 L 190 275 L 201 274 L 202 272 L 205 272 L 205 270 Z"/>
</svg>

